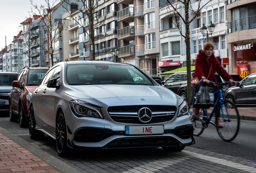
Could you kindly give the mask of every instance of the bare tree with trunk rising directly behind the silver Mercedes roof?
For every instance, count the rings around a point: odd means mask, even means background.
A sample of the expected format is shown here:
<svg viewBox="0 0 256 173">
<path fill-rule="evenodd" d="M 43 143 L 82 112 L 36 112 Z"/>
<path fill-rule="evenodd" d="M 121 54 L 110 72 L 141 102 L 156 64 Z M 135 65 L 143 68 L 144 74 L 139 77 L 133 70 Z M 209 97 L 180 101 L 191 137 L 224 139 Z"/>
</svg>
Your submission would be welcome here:
<svg viewBox="0 0 256 173">
<path fill-rule="evenodd" d="M 88 24 L 89 30 L 85 29 L 85 33 L 91 38 L 93 48 L 92 57 L 93 60 L 95 60 L 95 30 L 97 29 L 97 27 L 105 23 L 105 10 L 100 10 L 101 4 L 99 4 L 99 0 L 76 0 L 76 4 L 72 0 L 64 0 L 64 2 L 66 2 L 66 4 L 72 6 L 76 10 L 82 12 L 85 18 L 88 18 L 88 21 L 85 21 L 85 23 Z M 66 8 L 66 11 L 69 13 L 70 17 L 78 22 L 81 27 L 84 27 L 83 18 L 75 19 L 71 14 L 69 6 L 64 6 L 64 8 Z"/>
</svg>

